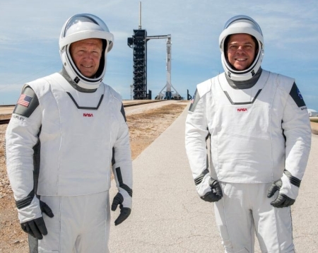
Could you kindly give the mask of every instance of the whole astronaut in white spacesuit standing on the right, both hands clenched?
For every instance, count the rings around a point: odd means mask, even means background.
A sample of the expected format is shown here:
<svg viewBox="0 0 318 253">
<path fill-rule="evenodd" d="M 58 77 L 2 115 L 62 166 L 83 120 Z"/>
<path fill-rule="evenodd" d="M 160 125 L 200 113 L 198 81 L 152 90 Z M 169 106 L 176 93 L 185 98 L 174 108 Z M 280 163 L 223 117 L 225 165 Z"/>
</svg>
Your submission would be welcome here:
<svg viewBox="0 0 318 253">
<path fill-rule="evenodd" d="M 196 86 L 186 120 L 196 190 L 215 204 L 225 252 L 254 252 L 255 233 L 261 252 L 294 252 L 290 206 L 311 145 L 305 102 L 293 78 L 261 69 L 252 18 L 228 20 L 219 45 L 225 73 Z"/>
</svg>

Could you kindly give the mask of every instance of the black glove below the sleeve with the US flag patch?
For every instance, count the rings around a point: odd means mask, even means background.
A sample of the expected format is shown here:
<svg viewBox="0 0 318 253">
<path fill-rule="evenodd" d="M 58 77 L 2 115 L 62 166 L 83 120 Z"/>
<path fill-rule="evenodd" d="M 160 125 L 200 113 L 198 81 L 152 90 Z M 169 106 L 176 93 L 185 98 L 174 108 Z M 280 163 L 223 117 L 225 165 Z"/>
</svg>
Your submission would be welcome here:
<svg viewBox="0 0 318 253">
<path fill-rule="evenodd" d="M 40 208 L 42 213 L 45 213 L 47 216 L 49 216 L 49 218 L 54 216 L 51 208 L 49 208 L 45 202 L 40 201 Z M 25 233 L 32 235 L 38 240 L 42 240 L 43 235 L 47 235 L 47 227 L 45 226 L 43 217 L 36 218 L 34 220 L 28 220 L 24 223 L 21 223 L 20 225 Z"/>
</svg>

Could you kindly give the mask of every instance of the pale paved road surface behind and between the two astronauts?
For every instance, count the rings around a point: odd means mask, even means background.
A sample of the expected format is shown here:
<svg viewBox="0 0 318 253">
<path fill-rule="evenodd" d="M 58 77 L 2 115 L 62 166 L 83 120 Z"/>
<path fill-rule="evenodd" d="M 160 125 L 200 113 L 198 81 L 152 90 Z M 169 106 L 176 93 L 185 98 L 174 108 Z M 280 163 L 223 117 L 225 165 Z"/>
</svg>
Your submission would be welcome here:
<svg viewBox="0 0 318 253">
<path fill-rule="evenodd" d="M 213 204 L 196 194 L 184 148 L 187 108 L 158 139 L 133 162 L 134 195 L 131 216 L 114 226 L 112 212 L 110 252 L 224 252 L 216 228 Z M 318 252 L 318 136 L 300 194 L 292 206 L 293 237 L 298 253 Z M 110 199 L 117 193 L 112 182 Z M 256 240 L 255 252 L 259 250 Z"/>
</svg>

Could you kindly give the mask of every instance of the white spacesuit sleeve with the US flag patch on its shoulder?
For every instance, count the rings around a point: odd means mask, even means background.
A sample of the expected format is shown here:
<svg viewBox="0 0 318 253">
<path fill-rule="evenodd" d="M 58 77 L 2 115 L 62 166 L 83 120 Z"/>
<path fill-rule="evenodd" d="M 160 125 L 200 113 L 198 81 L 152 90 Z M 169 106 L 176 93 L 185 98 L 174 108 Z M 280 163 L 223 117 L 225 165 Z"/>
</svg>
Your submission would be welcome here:
<svg viewBox="0 0 318 253">
<path fill-rule="evenodd" d="M 25 86 L 6 129 L 6 167 L 18 210 L 33 206 L 29 217 L 19 214 L 20 222 L 38 218 L 38 200 L 34 199 L 34 147 L 41 126 L 39 101 L 32 88 Z"/>
</svg>

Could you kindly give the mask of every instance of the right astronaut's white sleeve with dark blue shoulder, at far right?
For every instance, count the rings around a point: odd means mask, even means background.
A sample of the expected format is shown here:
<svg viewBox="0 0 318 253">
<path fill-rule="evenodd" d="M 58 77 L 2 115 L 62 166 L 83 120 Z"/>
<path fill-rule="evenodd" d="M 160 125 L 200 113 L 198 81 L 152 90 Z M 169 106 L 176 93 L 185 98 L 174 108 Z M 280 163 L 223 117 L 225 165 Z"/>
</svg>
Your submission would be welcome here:
<svg viewBox="0 0 318 253">
<path fill-rule="evenodd" d="M 307 107 L 295 83 L 283 111 L 282 127 L 286 139 L 285 170 L 297 185 L 305 173 L 312 134 Z"/>
</svg>

